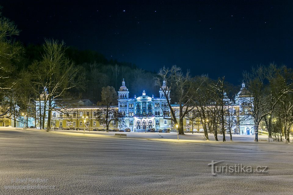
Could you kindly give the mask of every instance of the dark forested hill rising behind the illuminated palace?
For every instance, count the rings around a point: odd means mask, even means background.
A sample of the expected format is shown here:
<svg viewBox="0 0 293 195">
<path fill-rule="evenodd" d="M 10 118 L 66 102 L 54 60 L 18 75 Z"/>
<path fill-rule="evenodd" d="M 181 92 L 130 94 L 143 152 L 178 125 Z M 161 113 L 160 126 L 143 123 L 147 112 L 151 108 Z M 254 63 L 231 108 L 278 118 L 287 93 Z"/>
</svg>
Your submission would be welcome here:
<svg viewBox="0 0 293 195">
<path fill-rule="evenodd" d="M 43 53 L 42 45 L 27 45 L 25 47 L 27 67 L 34 60 L 40 60 Z M 93 50 L 78 50 L 74 47 L 66 49 L 67 57 L 72 60 L 75 66 L 80 66 L 85 73 L 85 89 L 71 90 L 74 98 L 90 99 L 93 103 L 100 101 L 101 90 L 104 86 L 113 86 L 116 91 L 121 86 L 122 79 L 129 90 L 129 97 L 141 95 L 146 90 L 147 95 L 158 95 L 158 87 L 154 86 L 156 73 L 144 70 L 129 62 L 118 62 L 108 60 L 103 54 Z"/>
</svg>

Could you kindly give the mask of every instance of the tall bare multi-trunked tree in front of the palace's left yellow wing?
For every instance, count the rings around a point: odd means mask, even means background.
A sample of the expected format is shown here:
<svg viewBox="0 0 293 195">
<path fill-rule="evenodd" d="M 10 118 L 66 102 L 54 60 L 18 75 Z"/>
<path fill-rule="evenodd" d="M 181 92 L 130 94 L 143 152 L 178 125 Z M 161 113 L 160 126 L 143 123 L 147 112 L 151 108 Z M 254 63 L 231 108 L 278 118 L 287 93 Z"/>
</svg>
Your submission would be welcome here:
<svg viewBox="0 0 293 195">
<path fill-rule="evenodd" d="M 32 74 L 31 83 L 38 95 L 39 105 L 43 102 L 42 128 L 45 128 L 46 111 L 48 111 L 47 130 L 51 127 L 52 102 L 65 95 L 71 88 L 82 88 L 84 76 L 79 74 L 79 68 L 65 56 L 64 43 L 45 40 L 42 61 L 29 66 Z M 41 112 L 42 113 L 42 112 Z M 42 114 L 41 114 L 42 115 Z"/>
</svg>

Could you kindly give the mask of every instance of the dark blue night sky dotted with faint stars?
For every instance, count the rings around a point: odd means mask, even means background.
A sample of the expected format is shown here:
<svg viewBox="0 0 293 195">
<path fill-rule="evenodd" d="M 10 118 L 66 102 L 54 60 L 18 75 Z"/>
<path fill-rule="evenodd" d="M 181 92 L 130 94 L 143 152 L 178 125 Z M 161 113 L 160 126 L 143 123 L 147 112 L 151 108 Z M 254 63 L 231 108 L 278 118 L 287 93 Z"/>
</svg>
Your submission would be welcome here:
<svg viewBox="0 0 293 195">
<path fill-rule="evenodd" d="M 239 84 L 251 66 L 293 67 L 293 1 L 60 2 L 0 5 L 24 44 L 54 38 L 146 70 L 176 64 Z"/>
</svg>

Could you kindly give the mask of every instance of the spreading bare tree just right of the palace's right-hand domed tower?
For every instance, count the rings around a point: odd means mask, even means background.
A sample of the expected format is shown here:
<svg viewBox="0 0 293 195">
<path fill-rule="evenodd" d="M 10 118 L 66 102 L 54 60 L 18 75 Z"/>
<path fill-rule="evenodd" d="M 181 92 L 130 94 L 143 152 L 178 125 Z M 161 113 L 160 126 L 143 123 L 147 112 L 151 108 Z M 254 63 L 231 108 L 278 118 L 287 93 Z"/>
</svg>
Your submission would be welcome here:
<svg viewBox="0 0 293 195">
<path fill-rule="evenodd" d="M 277 103 L 289 92 L 288 88 L 283 88 L 278 83 L 282 68 L 274 64 L 269 67 L 259 66 L 252 68 L 251 72 L 244 72 L 244 81 L 247 83 L 249 99 L 246 104 L 249 114 L 255 123 L 255 141 L 258 142 L 258 128 L 262 119 L 272 114 Z"/>
</svg>

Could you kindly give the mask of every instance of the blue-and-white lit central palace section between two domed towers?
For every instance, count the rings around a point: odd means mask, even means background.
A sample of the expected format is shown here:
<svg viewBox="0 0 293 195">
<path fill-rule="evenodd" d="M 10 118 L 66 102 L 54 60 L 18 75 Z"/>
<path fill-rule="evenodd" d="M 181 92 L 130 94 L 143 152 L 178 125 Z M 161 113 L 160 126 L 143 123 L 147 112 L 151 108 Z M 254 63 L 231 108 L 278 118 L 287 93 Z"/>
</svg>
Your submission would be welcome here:
<svg viewBox="0 0 293 195">
<path fill-rule="evenodd" d="M 167 90 L 166 81 L 162 88 Z M 170 109 L 164 92 L 159 90 L 160 97 L 147 96 L 143 90 L 142 96 L 128 97 L 129 91 L 123 79 L 122 86 L 118 91 L 118 109 L 125 116 L 125 125 L 131 131 L 145 131 L 149 128 L 170 129 Z M 169 98 L 170 100 L 170 98 Z"/>
</svg>

